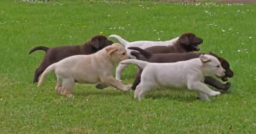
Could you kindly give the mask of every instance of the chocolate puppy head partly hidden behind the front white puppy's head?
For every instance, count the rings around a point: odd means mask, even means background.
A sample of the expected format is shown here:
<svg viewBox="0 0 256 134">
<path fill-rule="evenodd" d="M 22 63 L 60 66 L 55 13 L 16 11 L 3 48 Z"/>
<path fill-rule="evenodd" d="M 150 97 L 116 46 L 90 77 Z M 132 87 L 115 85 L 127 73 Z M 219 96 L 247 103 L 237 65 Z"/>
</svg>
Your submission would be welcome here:
<svg viewBox="0 0 256 134">
<path fill-rule="evenodd" d="M 226 59 L 219 57 L 217 54 L 214 54 L 213 52 L 209 52 L 209 54 L 219 59 L 221 66 L 224 68 L 224 70 L 226 70 L 226 75 L 221 78 L 222 81 L 227 81 L 227 77 L 231 78 L 234 76 L 234 72 L 230 69 L 229 62 Z"/>
</svg>

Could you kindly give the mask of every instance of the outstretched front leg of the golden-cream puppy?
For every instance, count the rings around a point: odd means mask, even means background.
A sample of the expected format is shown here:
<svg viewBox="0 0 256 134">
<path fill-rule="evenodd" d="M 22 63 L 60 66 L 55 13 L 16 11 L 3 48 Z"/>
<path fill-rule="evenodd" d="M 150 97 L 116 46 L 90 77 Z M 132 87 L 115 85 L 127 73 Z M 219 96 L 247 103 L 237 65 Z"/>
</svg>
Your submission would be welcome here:
<svg viewBox="0 0 256 134">
<path fill-rule="evenodd" d="M 130 84 L 124 85 L 122 82 L 116 80 L 112 76 L 101 78 L 101 82 L 103 82 L 106 85 L 111 85 L 112 87 L 115 87 L 115 88 L 117 88 L 119 90 L 122 90 L 122 91 L 128 91 L 128 90 L 131 89 Z"/>
</svg>

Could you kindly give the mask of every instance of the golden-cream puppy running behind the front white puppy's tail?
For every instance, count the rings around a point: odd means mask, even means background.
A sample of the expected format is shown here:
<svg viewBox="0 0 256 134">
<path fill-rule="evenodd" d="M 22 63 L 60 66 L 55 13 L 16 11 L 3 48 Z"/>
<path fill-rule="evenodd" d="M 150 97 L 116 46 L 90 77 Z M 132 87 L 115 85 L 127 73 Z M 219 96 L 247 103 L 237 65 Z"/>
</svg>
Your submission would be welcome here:
<svg viewBox="0 0 256 134">
<path fill-rule="evenodd" d="M 72 97 L 71 91 L 75 81 L 88 84 L 102 82 L 105 86 L 110 85 L 119 90 L 128 91 L 131 85 L 124 85 L 112 75 L 115 69 L 114 63 L 128 58 L 125 47 L 118 43 L 107 46 L 94 54 L 67 57 L 47 67 L 37 87 L 40 87 L 47 74 L 55 70 L 58 81 L 55 90 L 67 97 Z"/>
</svg>

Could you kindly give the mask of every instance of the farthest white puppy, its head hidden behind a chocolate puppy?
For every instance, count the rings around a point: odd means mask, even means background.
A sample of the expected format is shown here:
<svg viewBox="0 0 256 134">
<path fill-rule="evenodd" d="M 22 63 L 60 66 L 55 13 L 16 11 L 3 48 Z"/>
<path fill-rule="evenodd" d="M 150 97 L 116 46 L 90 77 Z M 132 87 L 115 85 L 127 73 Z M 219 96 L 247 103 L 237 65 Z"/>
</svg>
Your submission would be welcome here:
<svg viewBox="0 0 256 134">
<path fill-rule="evenodd" d="M 134 41 L 134 42 L 128 42 L 128 41 L 124 40 L 123 38 L 121 38 L 120 36 L 115 35 L 115 34 L 110 35 L 109 38 L 115 38 L 121 44 L 123 44 L 125 46 L 125 49 L 127 51 L 128 56 L 131 57 L 132 59 L 136 59 L 136 57 L 131 55 L 131 51 L 135 51 L 135 50 L 128 49 L 128 47 L 135 46 L 135 47 L 139 47 L 141 49 L 146 49 L 146 48 L 151 47 L 151 46 L 171 46 L 179 39 L 179 37 L 176 37 L 174 39 L 171 39 L 170 41 Z M 116 75 L 115 75 L 115 78 L 117 80 L 121 80 L 121 73 L 122 73 L 122 70 L 125 69 L 125 67 L 127 67 L 126 64 L 118 64 L 118 66 L 116 68 Z"/>
</svg>

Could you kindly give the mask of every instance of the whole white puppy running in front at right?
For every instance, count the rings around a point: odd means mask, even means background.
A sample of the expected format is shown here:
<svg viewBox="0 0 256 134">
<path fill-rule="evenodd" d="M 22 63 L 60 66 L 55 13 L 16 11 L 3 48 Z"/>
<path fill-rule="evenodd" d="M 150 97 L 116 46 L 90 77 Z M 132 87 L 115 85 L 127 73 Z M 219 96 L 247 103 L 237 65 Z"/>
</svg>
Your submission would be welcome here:
<svg viewBox="0 0 256 134">
<path fill-rule="evenodd" d="M 216 57 L 205 54 L 199 58 L 175 63 L 149 63 L 137 59 L 127 59 L 120 64 L 136 64 L 143 68 L 141 82 L 136 87 L 134 97 L 139 101 L 142 95 L 156 86 L 174 86 L 196 91 L 203 101 L 210 101 L 208 95 L 217 96 L 216 92 L 203 83 L 205 76 L 222 77 L 225 70 Z"/>
</svg>

